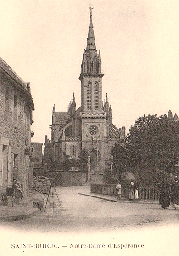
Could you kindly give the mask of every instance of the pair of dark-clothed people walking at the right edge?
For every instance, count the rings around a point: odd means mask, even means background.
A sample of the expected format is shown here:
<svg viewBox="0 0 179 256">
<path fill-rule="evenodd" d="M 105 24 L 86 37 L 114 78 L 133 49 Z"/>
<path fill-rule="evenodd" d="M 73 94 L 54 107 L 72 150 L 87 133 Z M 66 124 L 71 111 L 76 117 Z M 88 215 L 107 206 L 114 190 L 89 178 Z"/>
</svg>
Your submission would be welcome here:
<svg viewBox="0 0 179 256">
<path fill-rule="evenodd" d="M 163 178 L 162 183 L 159 186 L 161 193 L 159 203 L 163 209 L 169 207 L 170 202 L 173 204 L 173 208 L 176 210 L 179 207 L 179 178 L 174 176 L 174 181 L 170 186 L 167 179 Z"/>
</svg>

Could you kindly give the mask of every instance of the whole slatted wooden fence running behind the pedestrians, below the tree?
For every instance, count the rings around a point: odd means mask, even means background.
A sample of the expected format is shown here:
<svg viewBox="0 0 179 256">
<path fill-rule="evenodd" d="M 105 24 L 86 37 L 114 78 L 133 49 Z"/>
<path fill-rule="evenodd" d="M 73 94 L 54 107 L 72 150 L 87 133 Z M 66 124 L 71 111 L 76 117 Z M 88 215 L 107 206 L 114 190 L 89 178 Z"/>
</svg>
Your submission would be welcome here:
<svg viewBox="0 0 179 256">
<path fill-rule="evenodd" d="M 121 196 L 128 198 L 130 185 L 121 185 Z M 139 189 L 140 199 L 143 200 L 159 200 L 160 189 L 154 186 L 140 186 Z M 91 193 L 103 195 L 116 195 L 116 185 L 114 184 L 91 184 Z"/>
</svg>

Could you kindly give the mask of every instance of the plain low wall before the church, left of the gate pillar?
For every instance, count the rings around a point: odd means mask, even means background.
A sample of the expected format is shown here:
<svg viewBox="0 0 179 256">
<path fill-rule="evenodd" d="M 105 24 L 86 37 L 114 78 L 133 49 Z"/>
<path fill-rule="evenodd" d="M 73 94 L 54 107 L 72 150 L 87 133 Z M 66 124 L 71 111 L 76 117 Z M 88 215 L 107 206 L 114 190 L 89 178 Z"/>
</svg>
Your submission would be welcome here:
<svg viewBox="0 0 179 256">
<path fill-rule="evenodd" d="M 86 173 L 77 171 L 51 171 L 46 172 L 45 176 L 50 179 L 54 186 L 77 186 L 86 182 Z"/>
</svg>

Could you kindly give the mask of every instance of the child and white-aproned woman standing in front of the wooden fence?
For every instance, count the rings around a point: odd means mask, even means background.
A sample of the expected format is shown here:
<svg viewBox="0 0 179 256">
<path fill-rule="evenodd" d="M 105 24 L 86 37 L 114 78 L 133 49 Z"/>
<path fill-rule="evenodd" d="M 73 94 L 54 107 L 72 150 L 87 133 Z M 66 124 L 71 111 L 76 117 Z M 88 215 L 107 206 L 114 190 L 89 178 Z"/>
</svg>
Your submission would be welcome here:
<svg viewBox="0 0 179 256">
<path fill-rule="evenodd" d="M 117 191 L 117 200 L 121 199 L 121 184 L 120 181 L 117 181 L 116 185 L 116 191 Z M 139 192 L 136 183 L 133 181 L 130 182 L 130 191 L 129 191 L 129 200 L 138 200 L 139 199 Z"/>
</svg>

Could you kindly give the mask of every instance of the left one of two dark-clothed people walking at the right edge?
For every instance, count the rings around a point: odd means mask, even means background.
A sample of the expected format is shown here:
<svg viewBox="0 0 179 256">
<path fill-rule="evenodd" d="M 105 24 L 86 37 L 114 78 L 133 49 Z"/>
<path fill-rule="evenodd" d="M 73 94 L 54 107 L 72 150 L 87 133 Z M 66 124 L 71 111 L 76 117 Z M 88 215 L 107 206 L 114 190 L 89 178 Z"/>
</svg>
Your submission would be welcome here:
<svg viewBox="0 0 179 256">
<path fill-rule="evenodd" d="M 163 179 L 160 190 L 159 204 L 161 204 L 163 209 L 167 209 L 167 207 L 170 205 L 170 189 L 167 179 Z"/>
</svg>

